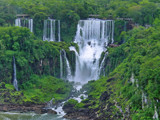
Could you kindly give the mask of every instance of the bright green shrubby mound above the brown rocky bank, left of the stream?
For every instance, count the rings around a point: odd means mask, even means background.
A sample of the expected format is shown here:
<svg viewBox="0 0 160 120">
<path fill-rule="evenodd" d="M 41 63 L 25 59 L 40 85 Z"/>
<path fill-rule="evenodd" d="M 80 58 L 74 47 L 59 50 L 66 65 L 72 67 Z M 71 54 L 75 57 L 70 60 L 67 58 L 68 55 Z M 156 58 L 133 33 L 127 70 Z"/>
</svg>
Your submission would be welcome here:
<svg viewBox="0 0 160 120">
<path fill-rule="evenodd" d="M 70 95 L 71 85 L 64 80 L 52 76 L 40 78 L 32 75 L 31 79 L 23 84 L 22 90 L 26 99 L 34 103 L 44 103 L 54 98 L 54 101 L 64 100 Z"/>
</svg>

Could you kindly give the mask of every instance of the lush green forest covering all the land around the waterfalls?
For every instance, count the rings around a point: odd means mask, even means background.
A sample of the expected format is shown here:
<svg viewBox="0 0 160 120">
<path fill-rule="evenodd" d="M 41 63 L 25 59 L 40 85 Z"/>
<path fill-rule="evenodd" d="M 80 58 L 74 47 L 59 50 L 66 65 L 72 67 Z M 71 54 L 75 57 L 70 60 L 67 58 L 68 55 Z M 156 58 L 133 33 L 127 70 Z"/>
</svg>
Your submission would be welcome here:
<svg viewBox="0 0 160 120">
<path fill-rule="evenodd" d="M 15 26 L 18 14 L 34 20 L 33 32 Z M 66 52 L 74 76 L 77 58 L 69 47 L 79 53 L 74 43 L 77 24 L 93 15 L 114 20 L 116 47 L 107 46 L 102 53 L 100 63 L 105 59 L 99 79 L 82 87 L 80 92 L 87 91 L 88 97 L 80 103 L 70 99 L 64 111 L 95 120 L 159 120 L 159 0 L 0 0 L 0 105 L 42 104 L 53 97 L 53 104 L 67 100 L 74 82 L 61 78 L 61 51 Z M 61 42 L 43 41 L 48 18 L 61 21 Z M 13 57 L 19 91 L 13 86 Z M 63 73 L 66 77 L 67 71 Z"/>
</svg>

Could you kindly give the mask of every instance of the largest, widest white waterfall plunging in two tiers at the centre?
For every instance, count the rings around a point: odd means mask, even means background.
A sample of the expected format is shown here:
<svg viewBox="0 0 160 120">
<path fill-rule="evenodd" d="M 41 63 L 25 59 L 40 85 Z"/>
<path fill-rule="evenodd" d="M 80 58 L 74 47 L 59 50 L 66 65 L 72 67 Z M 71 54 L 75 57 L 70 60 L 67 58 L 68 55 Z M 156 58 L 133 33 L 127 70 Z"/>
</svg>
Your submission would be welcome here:
<svg viewBox="0 0 160 120">
<path fill-rule="evenodd" d="M 98 79 L 101 53 L 106 50 L 105 47 L 109 43 L 113 42 L 114 21 L 80 20 L 75 36 L 75 43 L 79 46 L 79 54 L 76 56 L 76 71 L 72 80 L 83 84 L 89 80 Z"/>
</svg>

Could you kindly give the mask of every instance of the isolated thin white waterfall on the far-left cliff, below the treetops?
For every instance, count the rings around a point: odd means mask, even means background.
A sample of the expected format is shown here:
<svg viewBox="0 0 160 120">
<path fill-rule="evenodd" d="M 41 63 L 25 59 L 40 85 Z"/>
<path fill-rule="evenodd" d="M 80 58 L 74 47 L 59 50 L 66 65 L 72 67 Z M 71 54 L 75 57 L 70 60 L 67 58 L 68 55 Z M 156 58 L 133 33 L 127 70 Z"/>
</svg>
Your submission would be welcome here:
<svg viewBox="0 0 160 120">
<path fill-rule="evenodd" d="M 17 76 L 16 76 L 16 63 L 15 63 L 14 56 L 13 56 L 13 86 L 18 91 L 18 82 L 17 82 Z"/>
</svg>

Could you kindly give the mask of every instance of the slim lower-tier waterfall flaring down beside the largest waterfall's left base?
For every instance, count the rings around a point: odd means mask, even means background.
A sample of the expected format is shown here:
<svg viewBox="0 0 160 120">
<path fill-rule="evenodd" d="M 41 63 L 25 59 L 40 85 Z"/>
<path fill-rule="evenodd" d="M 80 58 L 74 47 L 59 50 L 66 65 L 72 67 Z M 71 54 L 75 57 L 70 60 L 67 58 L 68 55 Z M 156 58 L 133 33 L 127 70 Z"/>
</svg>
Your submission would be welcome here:
<svg viewBox="0 0 160 120">
<path fill-rule="evenodd" d="M 60 77 L 61 79 L 72 79 L 71 67 L 65 50 L 60 51 Z"/>
</svg>

